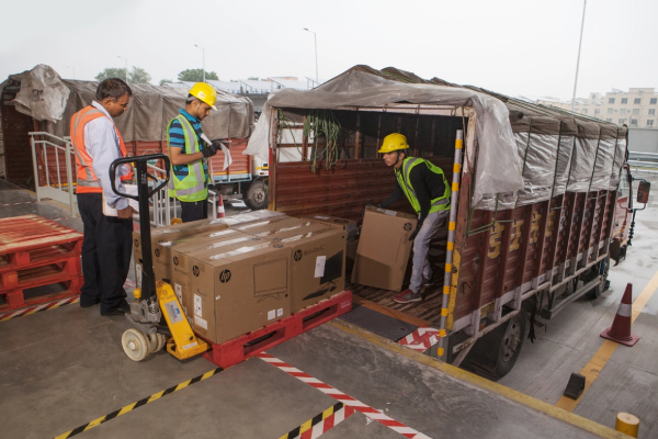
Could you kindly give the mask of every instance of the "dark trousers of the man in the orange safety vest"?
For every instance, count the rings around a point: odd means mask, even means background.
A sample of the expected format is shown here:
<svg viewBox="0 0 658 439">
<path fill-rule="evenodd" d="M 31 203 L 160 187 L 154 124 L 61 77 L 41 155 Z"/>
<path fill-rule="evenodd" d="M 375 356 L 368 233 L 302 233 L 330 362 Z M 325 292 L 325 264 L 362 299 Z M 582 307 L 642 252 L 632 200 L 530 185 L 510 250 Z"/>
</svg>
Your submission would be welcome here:
<svg viewBox="0 0 658 439">
<path fill-rule="evenodd" d="M 100 299 L 101 313 L 106 313 L 126 303 L 123 285 L 131 267 L 133 219 L 103 215 L 100 193 L 79 193 L 78 210 L 84 225 L 80 304 Z"/>
</svg>

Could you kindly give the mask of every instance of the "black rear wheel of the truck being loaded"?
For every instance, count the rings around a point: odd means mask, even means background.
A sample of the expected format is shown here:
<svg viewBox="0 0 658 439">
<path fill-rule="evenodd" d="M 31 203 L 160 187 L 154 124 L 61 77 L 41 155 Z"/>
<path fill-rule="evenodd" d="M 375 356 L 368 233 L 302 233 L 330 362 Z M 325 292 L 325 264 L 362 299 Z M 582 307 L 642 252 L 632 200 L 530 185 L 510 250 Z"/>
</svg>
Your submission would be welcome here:
<svg viewBox="0 0 658 439">
<path fill-rule="evenodd" d="M 477 340 L 462 367 L 492 381 L 507 375 L 521 352 L 526 320 L 526 313 L 521 309 L 509 322 Z"/>
</svg>

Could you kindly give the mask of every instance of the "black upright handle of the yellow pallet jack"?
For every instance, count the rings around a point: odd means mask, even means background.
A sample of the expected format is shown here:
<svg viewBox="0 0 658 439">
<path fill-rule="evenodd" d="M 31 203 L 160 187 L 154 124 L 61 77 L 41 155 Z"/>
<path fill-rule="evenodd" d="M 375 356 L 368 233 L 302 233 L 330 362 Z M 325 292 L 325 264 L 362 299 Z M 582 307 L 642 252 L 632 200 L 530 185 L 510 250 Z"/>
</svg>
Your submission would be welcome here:
<svg viewBox="0 0 658 439">
<path fill-rule="evenodd" d="M 154 190 L 148 189 L 148 179 L 157 181 L 156 178 L 148 173 L 148 161 L 149 160 L 163 160 L 167 177 L 164 181 L 157 185 Z M 129 195 L 122 193 L 116 190 L 116 168 L 120 165 L 135 164 L 135 171 L 137 173 L 137 195 Z M 154 260 L 151 257 L 151 241 L 150 241 L 150 217 L 148 211 L 148 199 L 164 188 L 169 182 L 169 172 L 171 165 L 169 157 L 164 154 L 149 154 L 146 156 L 137 157 L 123 157 L 117 158 L 110 166 L 110 181 L 112 183 L 112 191 L 117 195 L 125 196 L 128 199 L 137 200 L 139 203 L 139 238 L 141 245 L 141 296 L 148 297 L 150 301 L 156 301 L 156 275 L 154 273 Z"/>
</svg>

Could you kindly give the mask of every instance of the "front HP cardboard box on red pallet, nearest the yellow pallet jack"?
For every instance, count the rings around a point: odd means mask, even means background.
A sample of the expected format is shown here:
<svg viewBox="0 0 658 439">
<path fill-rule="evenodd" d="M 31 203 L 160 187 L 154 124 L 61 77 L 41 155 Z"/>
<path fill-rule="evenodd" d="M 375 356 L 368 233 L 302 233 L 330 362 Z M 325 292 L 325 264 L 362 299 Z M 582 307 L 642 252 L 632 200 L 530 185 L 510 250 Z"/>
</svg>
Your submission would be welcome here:
<svg viewBox="0 0 658 439">
<path fill-rule="evenodd" d="M 222 344 L 291 314 L 291 249 L 254 237 L 249 245 L 174 250 L 191 266 L 189 312 L 194 331 Z"/>
</svg>

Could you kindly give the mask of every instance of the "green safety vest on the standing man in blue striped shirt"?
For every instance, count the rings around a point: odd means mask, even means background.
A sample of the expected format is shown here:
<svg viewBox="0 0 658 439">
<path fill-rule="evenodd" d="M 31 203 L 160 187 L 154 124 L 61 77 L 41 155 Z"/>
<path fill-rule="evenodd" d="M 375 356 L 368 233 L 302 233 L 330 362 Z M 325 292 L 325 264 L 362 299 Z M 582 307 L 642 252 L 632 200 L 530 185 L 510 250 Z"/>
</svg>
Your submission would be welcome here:
<svg viewBox="0 0 658 439">
<path fill-rule="evenodd" d="M 177 117 L 172 119 L 171 122 L 178 120 L 182 127 L 183 134 L 185 135 L 185 145 L 191 145 L 192 148 L 188 151 L 188 154 L 198 153 L 201 148 L 198 147 L 198 138 L 196 137 L 196 133 L 194 132 L 194 127 L 182 114 L 179 114 Z M 169 122 L 169 125 L 171 125 Z M 169 137 L 169 126 L 167 126 L 167 148 L 169 149 L 169 143 L 171 142 Z M 169 156 L 171 157 L 171 151 L 169 151 Z M 188 176 L 182 180 L 177 177 L 173 172 L 173 165 L 171 165 L 171 177 L 169 179 L 169 195 L 175 196 L 180 201 L 183 202 L 194 202 L 206 200 L 208 198 L 208 188 L 206 185 L 206 181 L 208 181 L 208 176 L 203 171 L 202 160 L 196 160 L 191 164 L 188 164 Z"/>
</svg>

